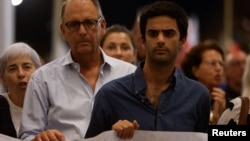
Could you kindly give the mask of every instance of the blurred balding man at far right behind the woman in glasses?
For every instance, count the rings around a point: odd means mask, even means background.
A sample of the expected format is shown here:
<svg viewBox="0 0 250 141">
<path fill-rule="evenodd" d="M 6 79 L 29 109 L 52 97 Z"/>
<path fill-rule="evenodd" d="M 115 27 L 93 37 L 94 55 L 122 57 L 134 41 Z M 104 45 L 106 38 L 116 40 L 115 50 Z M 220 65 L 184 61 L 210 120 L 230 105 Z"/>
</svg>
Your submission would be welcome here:
<svg viewBox="0 0 250 141">
<path fill-rule="evenodd" d="M 241 95 L 246 58 L 247 53 L 237 43 L 232 43 L 226 52 L 225 80 L 221 88 L 226 91 L 227 102 Z"/>
</svg>

